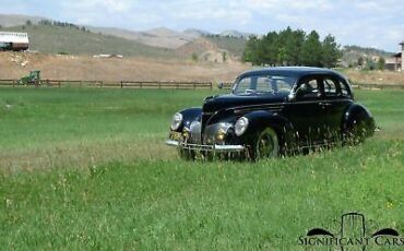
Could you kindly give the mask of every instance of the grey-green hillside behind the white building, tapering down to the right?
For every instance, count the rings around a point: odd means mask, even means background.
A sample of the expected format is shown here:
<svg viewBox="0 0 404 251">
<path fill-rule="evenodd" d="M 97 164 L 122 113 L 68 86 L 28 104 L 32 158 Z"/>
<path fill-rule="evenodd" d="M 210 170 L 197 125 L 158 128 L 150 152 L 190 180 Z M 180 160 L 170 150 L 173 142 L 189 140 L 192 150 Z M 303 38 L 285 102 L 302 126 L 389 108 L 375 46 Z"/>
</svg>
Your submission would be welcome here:
<svg viewBox="0 0 404 251">
<path fill-rule="evenodd" d="M 108 53 L 150 58 L 176 57 L 175 51 L 171 49 L 151 47 L 121 37 L 105 36 L 70 27 L 24 25 L 2 29 L 28 33 L 31 50 L 44 53 Z"/>
</svg>

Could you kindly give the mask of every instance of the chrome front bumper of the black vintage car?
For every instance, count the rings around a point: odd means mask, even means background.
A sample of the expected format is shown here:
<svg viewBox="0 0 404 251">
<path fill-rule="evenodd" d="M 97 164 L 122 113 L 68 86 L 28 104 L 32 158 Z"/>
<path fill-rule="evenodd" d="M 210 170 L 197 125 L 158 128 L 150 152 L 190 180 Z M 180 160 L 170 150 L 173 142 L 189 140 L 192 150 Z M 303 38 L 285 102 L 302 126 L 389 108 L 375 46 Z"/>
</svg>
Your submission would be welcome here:
<svg viewBox="0 0 404 251">
<path fill-rule="evenodd" d="M 192 150 L 192 151 L 209 151 L 209 152 L 218 152 L 218 153 L 239 153 L 243 152 L 246 147 L 243 145 L 199 145 L 199 144 L 187 144 L 179 141 L 166 140 L 166 144 L 170 146 L 177 146 L 182 150 Z"/>
</svg>

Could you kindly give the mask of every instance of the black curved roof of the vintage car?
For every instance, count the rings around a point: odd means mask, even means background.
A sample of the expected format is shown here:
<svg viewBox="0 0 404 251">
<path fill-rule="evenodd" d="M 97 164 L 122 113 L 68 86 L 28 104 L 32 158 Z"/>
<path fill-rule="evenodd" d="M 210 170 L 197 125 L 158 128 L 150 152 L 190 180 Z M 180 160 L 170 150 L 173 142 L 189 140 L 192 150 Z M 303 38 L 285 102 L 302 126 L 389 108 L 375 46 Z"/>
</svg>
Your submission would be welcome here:
<svg viewBox="0 0 404 251">
<path fill-rule="evenodd" d="M 316 74 L 331 74 L 337 75 L 342 79 L 345 79 L 341 73 L 326 69 L 326 68 L 312 68 L 312 67 L 274 67 L 274 68 L 261 68 L 241 73 L 240 77 L 246 75 L 260 75 L 260 74 L 280 74 L 280 75 L 290 75 L 295 77 L 301 77 L 306 75 L 316 75 Z"/>
</svg>

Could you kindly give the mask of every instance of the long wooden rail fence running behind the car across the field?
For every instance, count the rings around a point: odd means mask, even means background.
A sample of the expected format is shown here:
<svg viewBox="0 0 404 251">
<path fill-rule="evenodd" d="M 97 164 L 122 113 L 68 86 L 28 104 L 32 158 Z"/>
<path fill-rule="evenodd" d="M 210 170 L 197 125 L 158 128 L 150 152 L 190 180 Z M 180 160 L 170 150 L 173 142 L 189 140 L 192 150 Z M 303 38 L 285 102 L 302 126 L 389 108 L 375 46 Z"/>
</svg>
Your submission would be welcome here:
<svg viewBox="0 0 404 251">
<path fill-rule="evenodd" d="M 0 86 L 23 86 L 17 80 L 0 80 Z M 49 87 L 116 87 L 116 88 L 173 88 L 173 89 L 213 89 L 213 82 L 183 81 L 78 81 L 78 80 L 41 80 L 41 86 Z M 224 83 L 224 89 L 230 89 L 233 83 Z M 367 89 L 404 89 L 404 84 L 352 83 L 353 88 Z"/>
</svg>

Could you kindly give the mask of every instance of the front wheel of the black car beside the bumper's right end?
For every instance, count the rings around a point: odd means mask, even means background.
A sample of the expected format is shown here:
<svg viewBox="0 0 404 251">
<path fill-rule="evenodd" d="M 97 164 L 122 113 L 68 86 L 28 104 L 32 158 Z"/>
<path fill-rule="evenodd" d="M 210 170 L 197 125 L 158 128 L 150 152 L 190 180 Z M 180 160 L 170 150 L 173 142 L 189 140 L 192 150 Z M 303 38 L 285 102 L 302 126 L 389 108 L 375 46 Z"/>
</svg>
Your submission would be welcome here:
<svg viewBox="0 0 404 251">
<path fill-rule="evenodd" d="M 250 157 L 253 160 L 260 158 L 274 158 L 280 155 L 278 136 L 272 128 L 262 130 L 250 150 Z"/>
</svg>

